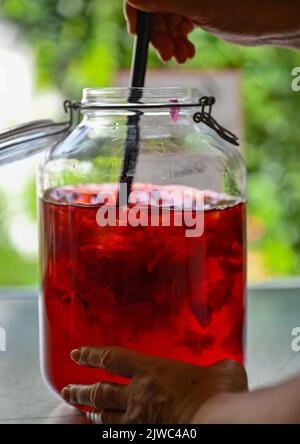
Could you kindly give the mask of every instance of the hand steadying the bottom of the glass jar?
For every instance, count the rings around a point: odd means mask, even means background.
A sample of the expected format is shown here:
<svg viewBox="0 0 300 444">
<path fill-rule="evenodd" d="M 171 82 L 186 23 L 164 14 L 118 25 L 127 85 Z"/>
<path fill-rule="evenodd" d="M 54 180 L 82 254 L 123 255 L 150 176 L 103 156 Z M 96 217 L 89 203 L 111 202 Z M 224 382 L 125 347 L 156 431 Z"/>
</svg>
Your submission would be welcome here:
<svg viewBox="0 0 300 444">
<path fill-rule="evenodd" d="M 93 409 L 88 418 L 96 424 L 189 424 L 195 415 L 205 422 L 222 395 L 247 390 L 246 372 L 234 361 L 199 367 L 120 347 L 81 347 L 71 357 L 79 365 L 130 378 L 129 384 L 63 389 L 67 402 Z"/>
</svg>

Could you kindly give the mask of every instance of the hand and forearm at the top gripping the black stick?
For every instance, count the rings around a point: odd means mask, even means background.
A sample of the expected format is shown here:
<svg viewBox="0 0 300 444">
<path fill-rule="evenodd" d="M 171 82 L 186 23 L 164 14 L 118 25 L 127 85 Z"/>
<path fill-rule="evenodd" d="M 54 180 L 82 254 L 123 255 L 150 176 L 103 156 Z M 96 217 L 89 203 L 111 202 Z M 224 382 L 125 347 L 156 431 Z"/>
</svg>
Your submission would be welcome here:
<svg viewBox="0 0 300 444">
<path fill-rule="evenodd" d="M 194 27 L 239 45 L 300 49 L 300 5 L 293 0 L 126 0 L 124 9 L 133 34 L 137 10 L 154 13 L 151 41 L 164 61 L 193 57 Z"/>
</svg>

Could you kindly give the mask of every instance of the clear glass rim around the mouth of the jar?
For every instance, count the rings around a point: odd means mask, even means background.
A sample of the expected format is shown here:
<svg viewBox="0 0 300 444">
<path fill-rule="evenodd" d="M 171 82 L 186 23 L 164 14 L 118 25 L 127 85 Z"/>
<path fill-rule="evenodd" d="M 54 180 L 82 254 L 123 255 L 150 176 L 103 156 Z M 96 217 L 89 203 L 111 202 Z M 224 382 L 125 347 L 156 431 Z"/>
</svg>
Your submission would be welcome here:
<svg viewBox="0 0 300 444">
<path fill-rule="evenodd" d="M 180 103 L 192 104 L 199 100 L 201 92 L 198 88 L 183 87 L 150 87 L 150 88 L 84 88 L 81 104 L 126 104 L 132 93 L 139 93 L 144 103 L 155 104 L 157 102 L 170 104 L 178 100 Z"/>
</svg>

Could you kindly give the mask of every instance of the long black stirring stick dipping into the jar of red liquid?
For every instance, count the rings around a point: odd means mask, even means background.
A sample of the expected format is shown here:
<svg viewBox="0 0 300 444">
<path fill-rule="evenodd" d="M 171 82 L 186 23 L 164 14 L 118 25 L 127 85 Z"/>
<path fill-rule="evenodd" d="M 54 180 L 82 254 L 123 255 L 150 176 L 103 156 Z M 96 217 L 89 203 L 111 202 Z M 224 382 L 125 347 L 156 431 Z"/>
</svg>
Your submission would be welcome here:
<svg viewBox="0 0 300 444">
<path fill-rule="evenodd" d="M 143 95 L 142 89 L 145 83 L 145 74 L 148 60 L 148 48 L 151 33 L 152 14 L 138 12 L 137 37 L 135 39 L 130 80 L 129 103 L 138 103 Z M 135 178 L 136 164 L 139 153 L 140 129 L 139 120 L 142 113 L 132 110 L 134 115 L 127 119 L 127 136 L 125 142 L 125 153 L 123 168 L 120 177 L 119 205 L 127 205 Z M 124 184 L 124 185 L 123 185 Z"/>
</svg>

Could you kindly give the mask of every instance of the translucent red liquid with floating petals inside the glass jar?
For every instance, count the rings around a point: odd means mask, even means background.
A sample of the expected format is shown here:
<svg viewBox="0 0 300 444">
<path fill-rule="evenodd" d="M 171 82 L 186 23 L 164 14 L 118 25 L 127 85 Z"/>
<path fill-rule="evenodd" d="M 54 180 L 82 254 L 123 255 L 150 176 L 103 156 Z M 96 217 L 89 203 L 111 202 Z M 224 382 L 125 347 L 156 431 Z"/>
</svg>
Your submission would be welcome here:
<svg viewBox="0 0 300 444">
<path fill-rule="evenodd" d="M 208 194 L 204 233 L 186 237 L 184 226 L 99 227 L 98 191 L 52 189 L 41 201 L 42 350 L 51 387 L 121 381 L 73 363 L 69 353 L 81 345 L 199 365 L 243 362 L 245 204 L 224 196 L 218 204 Z"/>
</svg>

